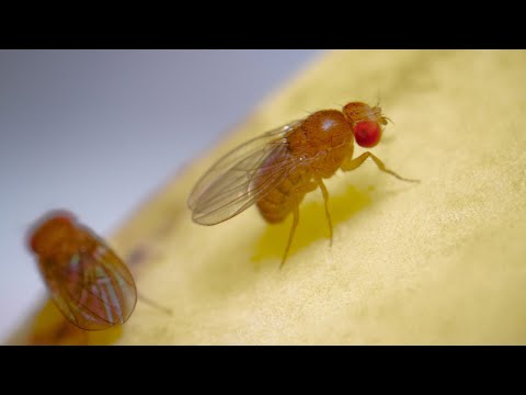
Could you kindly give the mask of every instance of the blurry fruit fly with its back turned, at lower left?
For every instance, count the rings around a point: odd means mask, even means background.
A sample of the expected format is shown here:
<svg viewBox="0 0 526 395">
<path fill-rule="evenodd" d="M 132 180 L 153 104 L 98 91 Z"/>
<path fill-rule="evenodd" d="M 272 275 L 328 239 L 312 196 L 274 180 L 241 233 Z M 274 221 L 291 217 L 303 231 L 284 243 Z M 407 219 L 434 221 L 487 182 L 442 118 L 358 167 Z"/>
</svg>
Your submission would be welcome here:
<svg viewBox="0 0 526 395">
<path fill-rule="evenodd" d="M 28 247 L 53 301 L 79 328 L 107 329 L 124 324 L 134 312 L 137 290 L 132 273 L 71 213 L 45 215 L 30 232 Z"/>
</svg>

